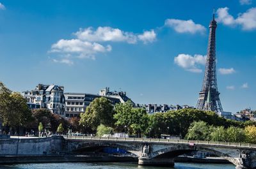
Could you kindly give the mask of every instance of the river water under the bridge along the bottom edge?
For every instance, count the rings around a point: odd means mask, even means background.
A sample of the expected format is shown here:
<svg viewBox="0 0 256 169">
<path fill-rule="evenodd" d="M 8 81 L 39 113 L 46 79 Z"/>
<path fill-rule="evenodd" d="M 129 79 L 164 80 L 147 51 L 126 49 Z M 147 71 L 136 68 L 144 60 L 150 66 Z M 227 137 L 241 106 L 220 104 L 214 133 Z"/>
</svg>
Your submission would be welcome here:
<svg viewBox="0 0 256 169">
<path fill-rule="evenodd" d="M 166 169 L 166 167 L 138 166 L 136 163 L 40 163 L 0 165 L 1 169 Z M 175 169 L 235 169 L 229 164 L 175 163 Z M 171 169 L 171 168 L 168 168 Z"/>
</svg>

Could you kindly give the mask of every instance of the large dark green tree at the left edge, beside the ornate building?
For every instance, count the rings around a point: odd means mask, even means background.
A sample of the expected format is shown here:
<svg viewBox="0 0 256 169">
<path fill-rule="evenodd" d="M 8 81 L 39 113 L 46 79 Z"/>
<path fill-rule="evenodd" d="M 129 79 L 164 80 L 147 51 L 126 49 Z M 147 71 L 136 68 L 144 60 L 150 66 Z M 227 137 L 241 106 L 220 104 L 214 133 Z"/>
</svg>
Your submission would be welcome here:
<svg viewBox="0 0 256 169">
<path fill-rule="evenodd" d="M 0 82 L 0 121 L 3 126 L 17 128 L 26 126 L 31 120 L 31 110 L 26 99 L 19 92 L 10 91 Z"/>
</svg>

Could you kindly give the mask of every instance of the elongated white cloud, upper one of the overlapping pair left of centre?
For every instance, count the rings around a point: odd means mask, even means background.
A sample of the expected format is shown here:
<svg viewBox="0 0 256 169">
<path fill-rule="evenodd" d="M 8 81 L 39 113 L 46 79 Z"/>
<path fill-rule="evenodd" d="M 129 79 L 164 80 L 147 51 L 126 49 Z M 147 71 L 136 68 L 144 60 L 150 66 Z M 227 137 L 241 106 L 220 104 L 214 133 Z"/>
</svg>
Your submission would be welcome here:
<svg viewBox="0 0 256 169">
<path fill-rule="evenodd" d="M 79 40 L 85 41 L 126 41 L 136 43 L 137 37 L 134 33 L 122 31 L 112 27 L 98 27 L 95 31 L 92 27 L 80 29 L 76 33 Z"/>
</svg>

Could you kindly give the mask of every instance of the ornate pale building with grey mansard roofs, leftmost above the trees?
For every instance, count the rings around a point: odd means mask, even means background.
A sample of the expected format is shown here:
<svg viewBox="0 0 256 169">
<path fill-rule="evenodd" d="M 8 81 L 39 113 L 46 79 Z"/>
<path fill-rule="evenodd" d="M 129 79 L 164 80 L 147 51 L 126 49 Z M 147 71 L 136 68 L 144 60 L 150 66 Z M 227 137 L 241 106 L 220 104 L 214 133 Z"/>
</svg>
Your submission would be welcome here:
<svg viewBox="0 0 256 169">
<path fill-rule="evenodd" d="M 64 87 L 58 85 L 38 84 L 32 91 L 24 91 L 22 95 L 27 99 L 29 108 L 47 108 L 52 114 L 65 117 Z"/>
</svg>

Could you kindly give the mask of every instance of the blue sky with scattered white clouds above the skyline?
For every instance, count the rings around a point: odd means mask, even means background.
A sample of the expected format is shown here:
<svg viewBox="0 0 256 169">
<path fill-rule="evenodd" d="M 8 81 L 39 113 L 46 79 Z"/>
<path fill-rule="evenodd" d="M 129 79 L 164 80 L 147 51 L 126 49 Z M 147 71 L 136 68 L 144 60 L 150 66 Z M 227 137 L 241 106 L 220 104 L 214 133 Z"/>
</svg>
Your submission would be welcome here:
<svg viewBox="0 0 256 169">
<path fill-rule="evenodd" d="M 135 103 L 195 107 L 209 22 L 218 22 L 224 111 L 256 109 L 256 0 L 0 0 L 0 81 L 65 92 L 125 91 Z"/>
</svg>

